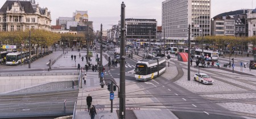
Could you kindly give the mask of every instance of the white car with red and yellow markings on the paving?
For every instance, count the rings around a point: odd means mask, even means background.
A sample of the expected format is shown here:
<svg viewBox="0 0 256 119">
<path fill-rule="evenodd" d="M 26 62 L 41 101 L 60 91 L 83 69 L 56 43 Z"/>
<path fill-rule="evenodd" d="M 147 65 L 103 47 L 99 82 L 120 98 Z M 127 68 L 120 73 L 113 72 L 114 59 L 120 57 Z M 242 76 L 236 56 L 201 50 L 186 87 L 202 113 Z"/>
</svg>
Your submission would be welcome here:
<svg viewBox="0 0 256 119">
<path fill-rule="evenodd" d="M 194 80 L 201 82 L 202 84 L 213 84 L 213 79 L 209 75 L 204 73 L 196 73 L 194 75 Z"/>
</svg>

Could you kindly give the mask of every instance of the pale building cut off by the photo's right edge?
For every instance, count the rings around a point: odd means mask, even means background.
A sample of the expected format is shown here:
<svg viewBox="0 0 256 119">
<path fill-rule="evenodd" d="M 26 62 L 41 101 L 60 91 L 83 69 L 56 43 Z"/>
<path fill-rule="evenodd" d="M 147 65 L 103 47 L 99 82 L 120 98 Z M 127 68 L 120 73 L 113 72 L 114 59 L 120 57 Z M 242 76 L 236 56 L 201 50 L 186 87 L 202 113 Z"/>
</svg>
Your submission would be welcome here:
<svg viewBox="0 0 256 119">
<path fill-rule="evenodd" d="M 248 36 L 256 36 L 256 8 L 254 10 L 248 10 Z"/>
</svg>

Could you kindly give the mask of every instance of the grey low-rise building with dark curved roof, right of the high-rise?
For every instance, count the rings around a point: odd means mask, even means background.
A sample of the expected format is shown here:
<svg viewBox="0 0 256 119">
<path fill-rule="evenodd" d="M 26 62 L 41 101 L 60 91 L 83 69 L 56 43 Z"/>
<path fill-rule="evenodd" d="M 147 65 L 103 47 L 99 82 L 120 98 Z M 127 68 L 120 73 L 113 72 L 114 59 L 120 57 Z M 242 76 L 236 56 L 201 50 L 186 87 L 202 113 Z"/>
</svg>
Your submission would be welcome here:
<svg viewBox="0 0 256 119">
<path fill-rule="evenodd" d="M 248 36 L 247 12 L 241 9 L 218 14 L 212 20 L 212 35 Z M 229 22 L 228 22 L 229 21 Z M 224 22 L 224 24 L 220 23 Z M 221 25 L 222 24 L 222 25 Z M 220 29 L 224 27 L 224 29 Z"/>
</svg>

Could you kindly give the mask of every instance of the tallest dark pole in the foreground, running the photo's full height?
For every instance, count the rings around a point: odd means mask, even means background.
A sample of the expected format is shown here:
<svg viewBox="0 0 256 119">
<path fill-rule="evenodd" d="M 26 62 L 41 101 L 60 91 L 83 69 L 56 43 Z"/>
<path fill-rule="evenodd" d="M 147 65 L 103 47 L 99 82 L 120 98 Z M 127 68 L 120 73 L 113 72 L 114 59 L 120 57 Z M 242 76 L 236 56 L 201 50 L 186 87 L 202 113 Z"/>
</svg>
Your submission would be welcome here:
<svg viewBox="0 0 256 119">
<path fill-rule="evenodd" d="M 121 4 L 121 43 L 120 43 L 120 97 L 119 118 L 125 119 L 125 3 Z"/>
</svg>

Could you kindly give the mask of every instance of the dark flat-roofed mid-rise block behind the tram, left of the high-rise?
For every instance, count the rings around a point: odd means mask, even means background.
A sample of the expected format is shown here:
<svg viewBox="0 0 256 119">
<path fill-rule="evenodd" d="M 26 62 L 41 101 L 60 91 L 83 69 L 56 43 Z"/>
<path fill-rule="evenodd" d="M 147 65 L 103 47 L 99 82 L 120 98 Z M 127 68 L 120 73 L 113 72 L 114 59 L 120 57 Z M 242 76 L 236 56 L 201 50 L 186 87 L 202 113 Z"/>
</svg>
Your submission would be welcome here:
<svg viewBox="0 0 256 119">
<path fill-rule="evenodd" d="M 156 40 L 157 22 L 155 19 L 125 19 L 126 23 L 126 44 L 132 44 L 134 41 L 152 41 Z M 119 27 L 121 22 L 119 21 Z"/>
</svg>

